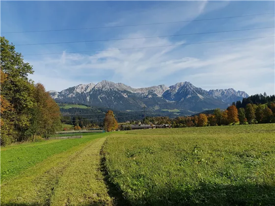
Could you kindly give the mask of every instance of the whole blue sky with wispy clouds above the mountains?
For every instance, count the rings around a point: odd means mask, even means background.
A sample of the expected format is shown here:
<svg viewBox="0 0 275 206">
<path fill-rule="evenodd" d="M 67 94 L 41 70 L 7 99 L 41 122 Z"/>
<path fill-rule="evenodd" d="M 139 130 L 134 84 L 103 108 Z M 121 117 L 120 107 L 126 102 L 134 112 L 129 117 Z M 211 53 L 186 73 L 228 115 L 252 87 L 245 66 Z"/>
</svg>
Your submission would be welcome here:
<svg viewBox="0 0 275 206">
<path fill-rule="evenodd" d="M 1 35 L 13 44 L 102 40 L 275 26 L 274 14 L 211 21 L 33 33 L 12 31 L 122 26 L 275 12 L 274 1 L 1 0 Z M 190 81 L 203 89 L 275 93 L 274 37 L 124 51 L 171 44 L 274 36 L 274 28 L 177 37 L 16 46 L 47 90 L 110 80 L 147 87 Z"/>
</svg>

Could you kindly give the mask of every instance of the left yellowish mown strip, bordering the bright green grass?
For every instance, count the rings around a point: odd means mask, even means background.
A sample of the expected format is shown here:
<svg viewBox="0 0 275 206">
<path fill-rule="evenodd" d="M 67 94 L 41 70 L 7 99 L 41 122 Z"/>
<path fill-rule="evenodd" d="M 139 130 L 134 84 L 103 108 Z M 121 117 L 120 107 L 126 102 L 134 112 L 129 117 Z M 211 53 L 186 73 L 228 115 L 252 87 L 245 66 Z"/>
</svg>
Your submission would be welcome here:
<svg viewBox="0 0 275 206">
<path fill-rule="evenodd" d="M 21 172 L 12 180 L 2 183 L 0 185 L 0 206 L 50 205 L 55 187 L 64 171 L 79 158 L 85 148 L 90 147 L 97 138 L 103 136 L 104 134 L 92 135 L 87 142 L 48 157 Z"/>
</svg>

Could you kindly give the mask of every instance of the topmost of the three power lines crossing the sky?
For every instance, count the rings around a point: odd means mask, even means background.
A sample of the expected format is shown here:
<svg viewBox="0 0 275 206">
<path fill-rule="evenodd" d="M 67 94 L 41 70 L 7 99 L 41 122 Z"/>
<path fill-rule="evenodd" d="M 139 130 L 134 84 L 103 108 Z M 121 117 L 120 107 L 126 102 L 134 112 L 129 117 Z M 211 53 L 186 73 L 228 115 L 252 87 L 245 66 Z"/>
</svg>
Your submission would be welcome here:
<svg viewBox="0 0 275 206">
<path fill-rule="evenodd" d="M 67 28 L 67 29 L 51 29 L 51 30 L 33 30 L 33 31 L 10 31 L 10 32 L 2 32 L 2 34 L 3 33 L 31 33 L 31 32 L 69 31 L 69 30 L 84 30 L 84 29 L 98 29 L 98 28 L 129 27 L 129 26 L 162 25 L 162 24 L 199 22 L 199 21 L 209 21 L 209 20 L 230 19 L 230 18 L 250 17 L 250 16 L 259 16 L 259 15 L 269 15 L 269 14 L 274 14 L 274 13 L 275 12 L 273 12 L 273 13 L 264 13 L 264 14 L 249 14 L 249 15 L 242 15 L 242 16 L 220 17 L 220 18 L 211 18 L 211 19 L 186 20 L 186 21 L 177 21 L 177 22 L 161 22 L 161 23 L 150 23 L 150 24 L 138 24 L 138 25 L 98 26 L 98 27 L 86 27 L 86 28 Z"/>
</svg>

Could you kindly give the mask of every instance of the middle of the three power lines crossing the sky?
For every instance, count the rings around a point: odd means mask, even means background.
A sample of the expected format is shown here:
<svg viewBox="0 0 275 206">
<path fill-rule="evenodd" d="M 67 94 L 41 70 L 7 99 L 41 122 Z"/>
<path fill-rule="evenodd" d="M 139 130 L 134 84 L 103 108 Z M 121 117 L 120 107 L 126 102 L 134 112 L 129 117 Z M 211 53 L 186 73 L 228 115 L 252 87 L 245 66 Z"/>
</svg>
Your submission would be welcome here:
<svg viewBox="0 0 275 206">
<path fill-rule="evenodd" d="M 213 33 L 234 32 L 234 31 L 247 31 L 247 30 L 255 30 L 255 29 L 274 28 L 274 27 L 275 26 L 260 27 L 260 28 L 236 29 L 236 30 L 225 30 L 225 31 L 212 31 L 212 32 L 202 32 L 202 33 L 189 33 L 189 34 L 174 34 L 174 35 L 163 35 L 163 36 L 122 38 L 122 39 L 102 39 L 102 40 L 86 40 L 86 41 L 72 41 L 72 42 L 53 42 L 53 43 L 37 43 L 37 44 L 16 44 L 14 46 L 49 45 L 49 44 L 70 44 L 70 43 L 83 43 L 83 42 L 103 42 L 103 41 L 130 40 L 130 39 L 148 39 L 148 38 L 161 38 L 161 37 L 172 37 L 172 36 L 187 36 L 187 35 L 196 35 L 196 34 L 213 34 Z"/>
</svg>

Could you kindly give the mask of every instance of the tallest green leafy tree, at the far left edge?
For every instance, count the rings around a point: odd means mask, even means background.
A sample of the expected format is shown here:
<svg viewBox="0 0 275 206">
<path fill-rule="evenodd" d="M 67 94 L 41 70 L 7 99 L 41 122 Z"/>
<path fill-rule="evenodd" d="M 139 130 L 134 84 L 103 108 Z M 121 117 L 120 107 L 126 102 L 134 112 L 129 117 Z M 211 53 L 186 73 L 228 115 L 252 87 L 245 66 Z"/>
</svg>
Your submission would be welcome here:
<svg viewBox="0 0 275 206">
<path fill-rule="evenodd" d="M 29 111 L 33 108 L 33 86 L 27 78 L 33 73 L 32 67 L 24 62 L 22 54 L 15 52 L 14 45 L 9 44 L 4 37 L 0 37 L 0 67 L 6 75 L 0 95 L 4 96 L 14 109 L 10 118 L 14 118 L 17 140 L 25 140 L 28 138 L 26 131 L 30 126 Z"/>
</svg>

